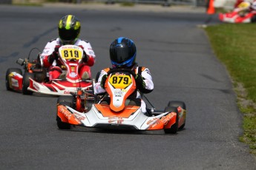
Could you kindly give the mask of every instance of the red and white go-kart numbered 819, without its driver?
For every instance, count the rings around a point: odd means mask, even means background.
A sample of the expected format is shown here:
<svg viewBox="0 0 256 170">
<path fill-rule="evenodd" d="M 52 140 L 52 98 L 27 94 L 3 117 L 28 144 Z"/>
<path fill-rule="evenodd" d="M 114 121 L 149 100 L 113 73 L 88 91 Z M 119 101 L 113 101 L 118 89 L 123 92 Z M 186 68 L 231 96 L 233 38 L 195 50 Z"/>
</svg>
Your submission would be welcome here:
<svg viewBox="0 0 256 170">
<path fill-rule="evenodd" d="M 38 92 L 46 95 L 70 95 L 76 92 L 77 87 L 88 89 L 92 86 L 91 81 L 82 80 L 79 77 L 79 63 L 82 61 L 83 50 L 74 45 L 59 47 L 59 60 L 62 63 L 62 75 L 58 79 L 49 81 L 47 69 L 41 67 L 40 56 L 30 60 L 30 55 L 24 60 L 19 58 L 16 62 L 24 66 L 22 69 L 10 68 L 6 72 L 6 88 L 22 92 L 24 95 L 32 95 Z M 90 67 L 87 68 L 91 72 Z"/>
</svg>

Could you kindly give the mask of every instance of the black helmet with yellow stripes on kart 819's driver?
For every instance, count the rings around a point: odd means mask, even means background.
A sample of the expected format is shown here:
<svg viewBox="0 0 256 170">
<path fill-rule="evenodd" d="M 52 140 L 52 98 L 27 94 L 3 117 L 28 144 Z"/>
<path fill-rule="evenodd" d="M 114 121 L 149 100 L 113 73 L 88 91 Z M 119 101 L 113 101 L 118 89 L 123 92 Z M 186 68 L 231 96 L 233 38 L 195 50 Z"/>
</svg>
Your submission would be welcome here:
<svg viewBox="0 0 256 170">
<path fill-rule="evenodd" d="M 59 21 L 59 38 L 62 44 L 74 44 L 79 37 L 80 21 L 76 16 L 67 15 Z"/>
</svg>

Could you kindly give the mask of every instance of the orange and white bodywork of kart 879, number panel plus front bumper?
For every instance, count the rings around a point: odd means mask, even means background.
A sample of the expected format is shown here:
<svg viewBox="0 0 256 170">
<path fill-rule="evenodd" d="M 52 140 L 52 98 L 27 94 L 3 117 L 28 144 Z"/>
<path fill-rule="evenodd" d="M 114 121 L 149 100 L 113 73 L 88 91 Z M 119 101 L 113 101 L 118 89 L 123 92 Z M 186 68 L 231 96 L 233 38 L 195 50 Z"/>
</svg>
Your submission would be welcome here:
<svg viewBox="0 0 256 170">
<path fill-rule="evenodd" d="M 177 112 L 161 112 L 149 117 L 142 112 L 141 106 L 125 105 L 128 96 L 136 89 L 131 74 L 118 72 L 108 75 L 105 89 L 111 98 L 110 104 L 94 103 L 88 112 L 59 104 L 57 116 L 64 123 L 106 129 L 158 130 L 170 129 L 177 121 L 178 127 L 184 124 L 186 110 L 181 107 Z"/>
</svg>

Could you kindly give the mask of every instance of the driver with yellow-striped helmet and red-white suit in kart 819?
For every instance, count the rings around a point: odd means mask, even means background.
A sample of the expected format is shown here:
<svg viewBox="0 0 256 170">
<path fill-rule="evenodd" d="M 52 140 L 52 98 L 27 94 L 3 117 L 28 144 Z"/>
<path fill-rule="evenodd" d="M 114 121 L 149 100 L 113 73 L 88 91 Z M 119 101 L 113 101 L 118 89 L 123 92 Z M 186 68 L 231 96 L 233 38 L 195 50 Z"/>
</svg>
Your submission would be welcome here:
<svg viewBox="0 0 256 170">
<path fill-rule="evenodd" d="M 59 61 L 58 50 L 62 45 L 76 45 L 82 47 L 84 55 L 79 64 L 79 78 L 91 78 L 91 69 L 95 62 L 95 54 L 88 41 L 79 39 L 81 30 L 80 21 L 76 16 L 67 15 L 61 18 L 58 24 L 59 38 L 49 41 L 40 55 L 42 67 L 48 68 L 49 81 L 59 78 L 62 74 L 62 63 Z"/>
</svg>

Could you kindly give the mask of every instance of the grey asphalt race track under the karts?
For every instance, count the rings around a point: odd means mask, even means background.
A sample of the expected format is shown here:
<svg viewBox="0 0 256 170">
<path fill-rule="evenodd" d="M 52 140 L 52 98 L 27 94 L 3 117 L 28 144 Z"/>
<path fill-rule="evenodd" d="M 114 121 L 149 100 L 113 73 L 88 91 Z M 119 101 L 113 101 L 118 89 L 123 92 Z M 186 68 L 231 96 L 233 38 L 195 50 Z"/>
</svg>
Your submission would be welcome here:
<svg viewBox="0 0 256 170">
<path fill-rule="evenodd" d="M 177 135 L 56 126 L 57 98 L 5 89 L 7 68 L 57 36 L 56 24 L 73 13 L 81 37 L 91 41 L 93 76 L 110 66 L 108 47 L 126 36 L 137 44 L 137 61 L 151 69 L 157 109 L 185 101 L 186 128 Z M 75 8 L 0 6 L 0 169 L 256 169 L 240 143 L 242 115 L 225 67 L 198 24 L 204 13 L 150 13 Z M 210 24 L 218 24 L 214 16 Z M 19 67 L 22 68 L 22 67 Z"/>
</svg>

